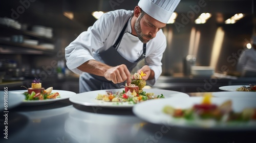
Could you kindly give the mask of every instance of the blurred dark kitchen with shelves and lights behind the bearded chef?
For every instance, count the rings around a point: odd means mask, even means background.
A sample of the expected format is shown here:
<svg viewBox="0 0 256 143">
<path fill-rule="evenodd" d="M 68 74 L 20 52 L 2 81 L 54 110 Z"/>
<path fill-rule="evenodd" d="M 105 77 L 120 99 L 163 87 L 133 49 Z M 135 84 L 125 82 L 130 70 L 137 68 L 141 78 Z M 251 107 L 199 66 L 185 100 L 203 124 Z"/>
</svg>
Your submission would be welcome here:
<svg viewBox="0 0 256 143">
<path fill-rule="evenodd" d="M 93 25 L 99 11 L 133 10 L 138 0 L 0 3 L 0 90 L 22 90 L 40 78 L 42 87 L 78 93 L 79 75 L 66 67 L 65 47 Z M 256 35 L 254 9 L 253 0 L 181 0 L 163 29 L 163 73 L 152 88 L 200 92 L 256 84 L 256 77 L 236 71 L 241 51 Z"/>
</svg>

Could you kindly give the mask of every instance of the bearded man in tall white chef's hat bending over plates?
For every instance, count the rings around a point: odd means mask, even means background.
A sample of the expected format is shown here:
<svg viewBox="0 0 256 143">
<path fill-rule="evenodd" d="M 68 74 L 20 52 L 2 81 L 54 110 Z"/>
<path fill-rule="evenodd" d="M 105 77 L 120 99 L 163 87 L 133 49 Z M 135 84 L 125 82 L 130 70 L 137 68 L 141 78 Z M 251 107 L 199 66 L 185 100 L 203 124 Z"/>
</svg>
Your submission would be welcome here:
<svg viewBox="0 0 256 143">
<path fill-rule="evenodd" d="M 147 85 L 162 73 L 166 37 L 161 30 L 180 0 L 140 0 L 131 10 L 103 14 L 65 49 L 67 67 L 79 74 L 79 92 L 131 85 L 131 71 L 144 59 Z"/>
</svg>

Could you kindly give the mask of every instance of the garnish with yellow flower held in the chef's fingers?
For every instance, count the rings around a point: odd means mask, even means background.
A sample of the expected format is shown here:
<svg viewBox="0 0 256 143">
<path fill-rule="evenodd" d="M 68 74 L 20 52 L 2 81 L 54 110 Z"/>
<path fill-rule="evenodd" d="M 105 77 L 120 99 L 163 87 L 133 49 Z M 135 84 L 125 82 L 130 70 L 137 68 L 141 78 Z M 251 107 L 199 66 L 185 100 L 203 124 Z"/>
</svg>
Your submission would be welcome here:
<svg viewBox="0 0 256 143">
<path fill-rule="evenodd" d="M 138 86 L 139 93 L 143 91 L 142 88 L 145 87 L 146 85 L 146 81 L 141 78 L 143 76 L 146 76 L 146 74 L 144 74 L 143 71 L 141 71 L 141 74 L 135 73 L 132 77 L 131 86 L 134 86 L 134 85 Z"/>
</svg>

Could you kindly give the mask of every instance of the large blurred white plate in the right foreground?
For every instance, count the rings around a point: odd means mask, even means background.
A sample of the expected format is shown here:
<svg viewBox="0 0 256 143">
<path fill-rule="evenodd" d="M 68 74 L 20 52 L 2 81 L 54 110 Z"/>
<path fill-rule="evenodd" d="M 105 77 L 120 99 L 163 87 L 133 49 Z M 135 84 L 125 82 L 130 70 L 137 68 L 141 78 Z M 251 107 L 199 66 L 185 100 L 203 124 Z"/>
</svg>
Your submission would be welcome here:
<svg viewBox="0 0 256 143">
<path fill-rule="evenodd" d="M 220 105 L 230 98 L 212 98 L 212 103 Z M 240 99 L 232 100 L 232 109 L 235 112 L 240 112 L 246 107 L 256 108 L 256 99 Z M 166 100 L 154 100 L 137 104 L 133 107 L 135 115 L 141 119 L 154 123 L 168 126 L 176 126 L 181 128 L 191 129 L 210 129 L 210 130 L 256 130 L 256 122 L 240 123 L 240 124 L 214 124 L 214 122 L 202 121 L 186 121 L 185 119 L 177 119 L 163 113 L 162 109 L 165 105 L 173 106 L 174 108 L 187 109 L 195 104 L 200 104 L 202 97 L 191 98 L 169 98 Z M 154 106 L 153 106 L 154 105 Z"/>
</svg>

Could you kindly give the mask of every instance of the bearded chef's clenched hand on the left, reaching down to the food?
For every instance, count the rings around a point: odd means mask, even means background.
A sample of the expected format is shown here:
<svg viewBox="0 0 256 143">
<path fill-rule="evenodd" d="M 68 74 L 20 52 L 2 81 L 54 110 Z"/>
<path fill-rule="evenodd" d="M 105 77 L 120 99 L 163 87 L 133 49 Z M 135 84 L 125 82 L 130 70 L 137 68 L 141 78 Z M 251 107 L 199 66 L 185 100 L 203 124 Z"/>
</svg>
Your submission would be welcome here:
<svg viewBox="0 0 256 143">
<path fill-rule="evenodd" d="M 124 64 L 109 68 L 105 71 L 104 77 L 115 84 L 126 81 L 129 86 L 132 82 L 131 73 Z"/>
</svg>

